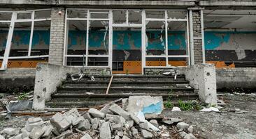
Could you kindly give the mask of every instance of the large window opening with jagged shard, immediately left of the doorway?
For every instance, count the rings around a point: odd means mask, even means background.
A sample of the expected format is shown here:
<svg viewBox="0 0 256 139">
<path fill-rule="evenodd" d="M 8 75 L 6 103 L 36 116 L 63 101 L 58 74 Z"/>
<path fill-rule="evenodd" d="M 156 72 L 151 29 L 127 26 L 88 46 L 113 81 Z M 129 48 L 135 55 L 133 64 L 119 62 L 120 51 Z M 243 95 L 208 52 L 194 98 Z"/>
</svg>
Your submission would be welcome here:
<svg viewBox="0 0 256 139">
<path fill-rule="evenodd" d="M 90 21 L 88 51 L 90 55 L 108 55 L 108 22 Z"/>
</svg>

